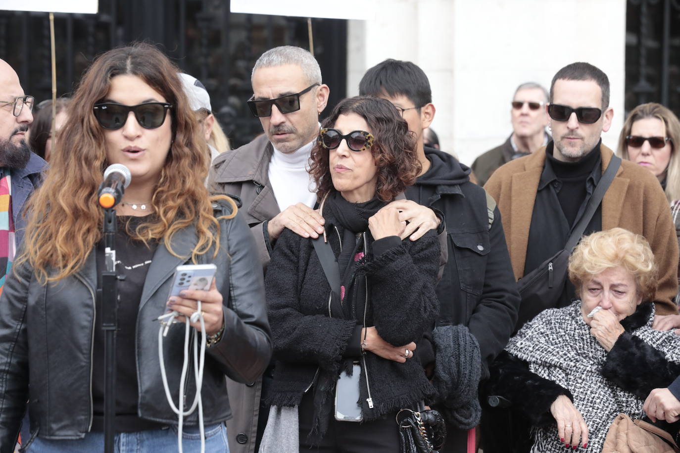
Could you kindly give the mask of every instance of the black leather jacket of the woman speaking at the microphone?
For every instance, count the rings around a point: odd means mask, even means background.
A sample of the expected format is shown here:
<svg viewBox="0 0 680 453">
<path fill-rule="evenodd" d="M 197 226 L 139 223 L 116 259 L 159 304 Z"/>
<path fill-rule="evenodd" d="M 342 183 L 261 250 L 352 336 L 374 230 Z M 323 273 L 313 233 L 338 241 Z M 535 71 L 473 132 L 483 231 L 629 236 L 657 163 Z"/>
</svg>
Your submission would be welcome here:
<svg viewBox="0 0 680 453">
<path fill-rule="evenodd" d="M 214 205 L 218 213 L 220 206 Z M 225 208 L 226 209 L 226 208 Z M 228 211 L 226 211 L 228 213 Z M 203 255 L 203 263 L 218 268 L 216 285 L 224 297 L 224 335 L 207 350 L 203 375 L 205 424 L 231 418 L 224 375 L 253 382 L 271 357 L 262 266 L 254 239 L 243 217 L 220 220 L 220 249 Z M 189 256 L 196 230 L 173 236 L 177 255 Z M 176 424 L 177 416 L 165 398 L 158 363 L 157 316 L 165 312 L 176 266 L 190 259 L 175 257 L 158 244 L 146 276 L 137 318 L 138 412 L 141 418 Z M 0 451 L 12 452 L 29 400 L 31 431 L 46 439 L 84 437 L 92 423 L 92 335 L 95 322 L 97 266 L 95 253 L 74 274 L 41 285 L 30 266 L 16 266 L 0 297 Z M 124 319 L 119 319 L 124 323 Z M 164 340 L 169 386 L 177 401 L 184 347 L 184 325 L 173 326 Z M 192 376 L 190 369 L 188 376 Z M 195 386 L 188 379 L 186 395 Z M 30 384 L 30 390 L 29 390 Z M 197 424 L 198 412 L 186 418 Z"/>
</svg>

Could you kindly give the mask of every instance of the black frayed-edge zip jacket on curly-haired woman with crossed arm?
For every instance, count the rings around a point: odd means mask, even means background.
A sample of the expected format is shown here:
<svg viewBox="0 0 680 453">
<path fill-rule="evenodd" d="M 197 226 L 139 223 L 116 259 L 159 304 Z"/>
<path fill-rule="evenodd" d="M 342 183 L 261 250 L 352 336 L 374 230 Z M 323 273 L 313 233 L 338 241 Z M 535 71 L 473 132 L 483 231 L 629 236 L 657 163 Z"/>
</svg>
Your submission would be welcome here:
<svg viewBox="0 0 680 453">
<path fill-rule="evenodd" d="M 324 209 L 324 219 L 328 242 L 337 257 L 343 230 L 339 226 L 335 230 L 339 222 L 330 210 Z M 434 231 L 416 241 L 393 239 L 396 243 L 377 256 L 369 243 L 369 253 L 356 266 L 356 274 L 362 276 L 356 289 L 362 281 L 368 282 L 366 325 L 375 325 L 386 342 L 403 346 L 419 342 L 436 319 L 439 240 Z M 357 309 L 356 319 L 349 319 L 335 316 L 337 310 L 331 308 L 329 316 L 329 303 L 335 302 L 329 302 L 330 285 L 308 238 L 284 230 L 271 256 L 265 289 L 276 360 L 267 403 L 299 405 L 304 393 L 318 382 L 331 382 L 330 388 L 322 389 L 330 393 L 343 361 L 355 357 L 362 360 L 364 420 L 411 407 L 433 393 L 416 357 L 398 363 L 367 352 L 362 358 L 356 329 L 363 325 L 363 311 Z"/>
</svg>

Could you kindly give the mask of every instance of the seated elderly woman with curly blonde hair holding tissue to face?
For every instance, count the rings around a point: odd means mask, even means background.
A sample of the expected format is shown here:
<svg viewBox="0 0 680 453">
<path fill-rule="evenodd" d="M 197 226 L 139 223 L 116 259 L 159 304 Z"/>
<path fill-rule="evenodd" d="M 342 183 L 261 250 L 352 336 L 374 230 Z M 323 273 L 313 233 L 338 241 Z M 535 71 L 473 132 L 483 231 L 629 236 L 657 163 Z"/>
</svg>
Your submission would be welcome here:
<svg viewBox="0 0 680 453">
<path fill-rule="evenodd" d="M 643 417 L 647 395 L 680 374 L 680 336 L 651 328 L 656 276 L 643 236 L 593 233 L 569 259 L 579 300 L 545 310 L 511 338 L 490 391 L 528 419 L 532 452 L 599 452 L 619 414 Z"/>
</svg>

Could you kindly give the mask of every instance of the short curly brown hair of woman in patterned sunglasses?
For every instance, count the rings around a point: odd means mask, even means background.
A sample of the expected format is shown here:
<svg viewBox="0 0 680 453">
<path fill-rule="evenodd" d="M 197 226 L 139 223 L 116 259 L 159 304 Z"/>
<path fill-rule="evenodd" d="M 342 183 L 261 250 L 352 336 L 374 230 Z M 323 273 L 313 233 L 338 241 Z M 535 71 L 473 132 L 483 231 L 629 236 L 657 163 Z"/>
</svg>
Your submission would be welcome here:
<svg viewBox="0 0 680 453">
<path fill-rule="evenodd" d="M 407 122 L 390 103 L 373 96 L 354 96 L 340 101 L 322 122 L 322 128 L 333 128 L 340 115 L 356 113 L 369 125 L 375 140 L 371 154 L 378 167 L 376 193 L 383 201 L 392 201 L 413 184 L 422 166 L 418 161 L 415 138 L 409 132 Z M 316 181 L 316 191 L 322 200 L 334 190 L 330 179 L 328 149 L 320 141 L 314 145 L 309 158 L 309 174 Z"/>
</svg>

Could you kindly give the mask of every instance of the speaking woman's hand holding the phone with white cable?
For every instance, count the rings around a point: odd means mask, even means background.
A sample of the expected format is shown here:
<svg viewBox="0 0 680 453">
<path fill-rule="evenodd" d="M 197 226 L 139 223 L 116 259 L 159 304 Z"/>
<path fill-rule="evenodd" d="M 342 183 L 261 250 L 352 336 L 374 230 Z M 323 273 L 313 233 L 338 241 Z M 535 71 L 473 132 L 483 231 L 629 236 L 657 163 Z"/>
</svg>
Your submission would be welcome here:
<svg viewBox="0 0 680 453">
<path fill-rule="evenodd" d="M 194 312 L 197 311 L 197 301 L 201 301 L 201 311 L 203 312 L 203 321 L 205 323 L 205 334 L 208 336 L 214 335 L 222 329 L 224 324 L 224 312 L 222 311 L 222 294 L 217 290 L 215 279 L 208 291 L 197 289 L 190 291 L 185 289 L 180 293 L 181 297 L 170 297 L 167 303 L 169 310 L 175 310 L 184 315 L 178 318 L 180 321 L 186 323 L 186 319 L 190 318 Z M 190 323 L 199 331 L 201 330 L 200 320 Z"/>
</svg>

